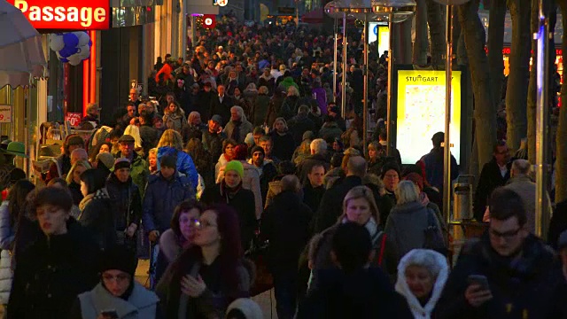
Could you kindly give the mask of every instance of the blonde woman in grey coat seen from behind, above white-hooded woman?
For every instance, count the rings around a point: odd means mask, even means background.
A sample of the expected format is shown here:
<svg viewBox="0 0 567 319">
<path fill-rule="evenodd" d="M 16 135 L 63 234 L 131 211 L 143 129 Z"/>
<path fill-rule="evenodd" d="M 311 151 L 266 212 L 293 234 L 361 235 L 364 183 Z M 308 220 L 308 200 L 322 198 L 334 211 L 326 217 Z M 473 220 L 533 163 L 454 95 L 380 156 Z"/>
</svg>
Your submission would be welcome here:
<svg viewBox="0 0 567 319">
<path fill-rule="evenodd" d="M 415 183 L 401 181 L 395 194 L 398 200 L 388 215 L 384 231 L 394 247 L 392 253 L 395 263 L 398 264 L 401 256 L 410 250 L 424 247 L 425 231 L 428 228 L 436 227 L 438 236 L 443 236 L 437 217 L 423 206 Z"/>
</svg>

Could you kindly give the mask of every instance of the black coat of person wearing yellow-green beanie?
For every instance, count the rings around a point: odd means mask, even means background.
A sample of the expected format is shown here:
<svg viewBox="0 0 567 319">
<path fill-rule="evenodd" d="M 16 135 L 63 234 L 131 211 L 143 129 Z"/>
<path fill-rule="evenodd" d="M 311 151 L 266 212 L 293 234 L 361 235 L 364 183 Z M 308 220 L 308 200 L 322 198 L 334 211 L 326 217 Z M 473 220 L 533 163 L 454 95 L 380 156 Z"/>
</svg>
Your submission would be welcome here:
<svg viewBox="0 0 567 319">
<path fill-rule="evenodd" d="M 201 201 L 207 205 L 226 204 L 237 211 L 242 248 L 246 251 L 250 247 L 254 233 L 258 228 L 254 193 L 241 188 L 233 198 L 228 198 L 226 194 L 221 194 L 221 183 L 217 183 L 203 191 Z"/>
</svg>

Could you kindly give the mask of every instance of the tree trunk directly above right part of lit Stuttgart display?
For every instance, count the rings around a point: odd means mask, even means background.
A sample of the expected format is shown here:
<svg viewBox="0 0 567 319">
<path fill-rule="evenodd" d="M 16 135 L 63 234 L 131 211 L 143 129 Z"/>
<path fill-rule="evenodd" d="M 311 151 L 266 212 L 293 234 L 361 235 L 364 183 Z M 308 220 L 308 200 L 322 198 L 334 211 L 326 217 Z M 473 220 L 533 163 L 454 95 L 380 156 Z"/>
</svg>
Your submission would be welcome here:
<svg viewBox="0 0 567 319">
<path fill-rule="evenodd" d="M 441 4 L 427 0 L 427 22 L 431 38 L 431 66 L 443 66 L 446 53 L 445 21 Z"/>
</svg>

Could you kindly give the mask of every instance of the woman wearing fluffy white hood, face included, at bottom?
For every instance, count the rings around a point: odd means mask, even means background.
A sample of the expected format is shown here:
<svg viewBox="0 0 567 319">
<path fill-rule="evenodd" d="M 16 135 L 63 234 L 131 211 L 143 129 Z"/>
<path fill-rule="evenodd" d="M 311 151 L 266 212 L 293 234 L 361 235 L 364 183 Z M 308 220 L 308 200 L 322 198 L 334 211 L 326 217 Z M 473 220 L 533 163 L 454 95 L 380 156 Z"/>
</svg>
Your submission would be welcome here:
<svg viewBox="0 0 567 319">
<path fill-rule="evenodd" d="M 414 318 L 431 318 L 448 274 L 447 258 L 429 249 L 413 249 L 400 260 L 396 292 L 406 298 Z"/>
</svg>

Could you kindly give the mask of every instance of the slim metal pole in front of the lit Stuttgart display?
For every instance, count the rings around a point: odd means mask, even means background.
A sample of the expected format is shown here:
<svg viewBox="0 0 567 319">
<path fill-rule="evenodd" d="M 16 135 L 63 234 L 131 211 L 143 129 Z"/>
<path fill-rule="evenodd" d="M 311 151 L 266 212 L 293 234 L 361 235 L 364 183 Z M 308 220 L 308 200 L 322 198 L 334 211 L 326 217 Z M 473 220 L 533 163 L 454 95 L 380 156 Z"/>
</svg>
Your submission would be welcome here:
<svg viewBox="0 0 567 319">
<path fill-rule="evenodd" d="M 447 54 L 445 78 L 445 146 L 443 169 L 443 217 L 448 222 L 451 215 L 451 81 L 453 79 L 453 5 L 447 5 Z"/>
</svg>

